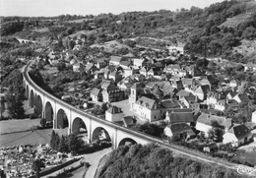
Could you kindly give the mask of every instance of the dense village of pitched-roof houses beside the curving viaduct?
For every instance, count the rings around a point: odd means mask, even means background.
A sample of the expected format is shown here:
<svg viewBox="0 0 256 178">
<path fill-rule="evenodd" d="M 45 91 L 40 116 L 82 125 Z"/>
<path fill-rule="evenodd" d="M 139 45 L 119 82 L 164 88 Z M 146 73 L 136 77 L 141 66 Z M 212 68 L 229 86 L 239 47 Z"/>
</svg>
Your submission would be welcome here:
<svg viewBox="0 0 256 178">
<path fill-rule="evenodd" d="M 72 39 L 76 42 L 73 50 L 80 50 L 83 36 Z M 119 44 L 115 40 L 104 42 L 101 49 L 115 49 Z M 226 73 L 238 69 L 250 75 L 256 71 L 255 65 L 187 55 L 181 43 L 162 49 L 133 49 L 139 51 L 137 57 L 107 58 L 99 52 L 84 60 L 69 51 L 52 50 L 47 60 L 38 57 L 36 65 L 40 63 L 53 76 L 60 64 L 82 75 L 78 78 L 82 80 L 65 83 L 59 96 L 101 119 L 129 128 L 164 123 L 164 139 L 201 140 L 209 153 L 224 145 L 235 150 L 246 146 L 246 151 L 255 152 L 256 111 L 255 104 L 251 105 L 255 99 L 251 91 L 256 85 Z M 252 106 L 250 115 L 242 118 L 239 112 L 248 105 Z"/>
</svg>

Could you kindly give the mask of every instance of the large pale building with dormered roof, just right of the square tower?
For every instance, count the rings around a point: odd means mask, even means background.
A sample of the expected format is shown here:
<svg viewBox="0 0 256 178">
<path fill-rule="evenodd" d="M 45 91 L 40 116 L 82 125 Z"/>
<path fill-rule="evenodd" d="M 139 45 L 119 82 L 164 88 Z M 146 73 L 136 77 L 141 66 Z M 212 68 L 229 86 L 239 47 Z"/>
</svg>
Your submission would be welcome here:
<svg viewBox="0 0 256 178">
<path fill-rule="evenodd" d="M 132 103 L 131 110 L 149 122 L 158 121 L 164 117 L 160 104 L 155 99 L 146 96 L 142 96 L 135 103 Z"/>
</svg>

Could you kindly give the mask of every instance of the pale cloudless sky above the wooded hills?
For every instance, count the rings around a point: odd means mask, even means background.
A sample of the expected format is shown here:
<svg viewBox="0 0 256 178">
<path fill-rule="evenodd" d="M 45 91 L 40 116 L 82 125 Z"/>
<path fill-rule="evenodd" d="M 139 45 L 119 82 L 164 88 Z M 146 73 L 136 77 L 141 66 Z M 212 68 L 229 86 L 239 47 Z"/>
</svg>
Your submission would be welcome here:
<svg viewBox="0 0 256 178">
<path fill-rule="evenodd" d="M 205 8 L 223 0 L 0 0 L 0 16 L 52 17 L 59 15 L 120 14 L 131 11 L 175 11 Z"/>
</svg>

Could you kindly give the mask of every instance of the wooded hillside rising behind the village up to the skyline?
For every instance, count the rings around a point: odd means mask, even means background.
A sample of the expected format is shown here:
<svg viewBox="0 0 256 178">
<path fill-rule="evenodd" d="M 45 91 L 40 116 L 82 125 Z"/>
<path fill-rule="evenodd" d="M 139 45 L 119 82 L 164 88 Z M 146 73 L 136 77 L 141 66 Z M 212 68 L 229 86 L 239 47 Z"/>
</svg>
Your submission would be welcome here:
<svg viewBox="0 0 256 178">
<path fill-rule="evenodd" d="M 243 15 L 247 18 L 237 22 L 237 26 L 228 26 L 228 23 L 224 25 L 229 19 Z M 96 30 L 95 33 L 87 34 L 88 45 L 112 39 L 151 36 L 167 39 L 171 44 L 184 42 L 189 54 L 204 57 L 222 56 L 235 62 L 255 63 L 256 54 L 250 53 L 246 56 L 232 50 L 233 47 L 239 46 L 243 39 L 256 39 L 256 2 L 253 0 L 225 0 L 205 9 L 191 7 L 174 12 L 159 10 L 85 17 L 2 17 L 1 22 L 1 36 L 18 32 L 19 35 L 33 40 L 42 36 L 64 39 L 80 30 Z M 1 41 L 1 45 L 9 44 L 10 42 Z"/>
</svg>

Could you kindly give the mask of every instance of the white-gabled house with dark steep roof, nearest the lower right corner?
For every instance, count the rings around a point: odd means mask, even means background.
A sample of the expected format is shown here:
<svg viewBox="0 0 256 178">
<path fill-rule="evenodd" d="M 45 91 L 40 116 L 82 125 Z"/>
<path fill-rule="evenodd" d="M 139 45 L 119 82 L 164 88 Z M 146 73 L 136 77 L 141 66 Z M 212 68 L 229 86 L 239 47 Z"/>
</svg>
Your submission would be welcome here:
<svg viewBox="0 0 256 178">
<path fill-rule="evenodd" d="M 225 134 L 224 134 L 224 144 L 230 143 L 232 147 L 239 147 L 243 144 L 248 143 L 252 140 L 252 133 L 248 127 L 244 124 L 234 124 Z"/>
</svg>

